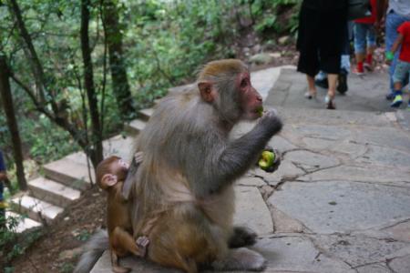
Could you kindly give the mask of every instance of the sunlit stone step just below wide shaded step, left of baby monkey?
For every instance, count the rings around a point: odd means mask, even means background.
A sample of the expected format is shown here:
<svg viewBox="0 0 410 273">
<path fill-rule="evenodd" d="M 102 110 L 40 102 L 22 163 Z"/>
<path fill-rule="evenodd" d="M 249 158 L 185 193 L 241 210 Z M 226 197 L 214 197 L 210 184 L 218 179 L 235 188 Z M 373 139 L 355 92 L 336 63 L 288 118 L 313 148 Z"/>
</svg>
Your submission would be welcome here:
<svg viewBox="0 0 410 273">
<path fill-rule="evenodd" d="M 67 207 L 72 201 L 78 199 L 81 192 L 75 188 L 67 187 L 46 177 L 38 177 L 28 182 L 28 188 L 33 197 L 49 202 L 58 207 Z"/>
</svg>

